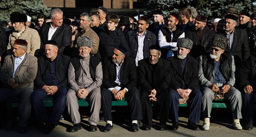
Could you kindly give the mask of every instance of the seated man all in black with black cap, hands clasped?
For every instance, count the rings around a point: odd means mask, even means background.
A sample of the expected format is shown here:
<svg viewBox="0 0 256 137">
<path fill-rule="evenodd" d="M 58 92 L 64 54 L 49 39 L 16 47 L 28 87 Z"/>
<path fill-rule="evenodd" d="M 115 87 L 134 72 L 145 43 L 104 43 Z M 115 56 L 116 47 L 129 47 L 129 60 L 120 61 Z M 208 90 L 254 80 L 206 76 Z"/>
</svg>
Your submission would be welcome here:
<svg viewBox="0 0 256 137">
<path fill-rule="evenodd" d="M 160 58 L 160 50 L 159 46 L 150 46 L 149 57 L 139 61 L 138 77 L 144 130 L 150 130 L 152 126 L 152 103 L 160 107 L 160 130 L 166 130 L 166 121 L 169 117 L 168 88 L 171 65 L 167 60 Z"/>
</svg>

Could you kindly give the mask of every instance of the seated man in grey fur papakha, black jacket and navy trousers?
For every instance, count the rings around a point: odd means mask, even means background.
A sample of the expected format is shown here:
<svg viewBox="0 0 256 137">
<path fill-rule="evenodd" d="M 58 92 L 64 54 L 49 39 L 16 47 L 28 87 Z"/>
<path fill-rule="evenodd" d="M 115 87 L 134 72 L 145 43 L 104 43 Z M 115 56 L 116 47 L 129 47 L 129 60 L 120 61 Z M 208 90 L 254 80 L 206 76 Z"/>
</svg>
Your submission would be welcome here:
<svg viewBox="0 0 256 137">
<path fill-rule="evenodd" d="M 199 90 L 197 60 L 190 53 L 193 46 L 192 40 L 179 38 L 177 41 L 177 56 L 170 57 L 171 73 L 175 80 L 170 84 L 169 108 L 172 115 L 171 130 L 177 130 L 178 126 L 178 104 L 180 98 L 188 98 L 189 117 L 187 126 L 192 130 L 199 130 L 195 123 L 200 121 L 200 109 L 202 93 Z"/>
</svg>

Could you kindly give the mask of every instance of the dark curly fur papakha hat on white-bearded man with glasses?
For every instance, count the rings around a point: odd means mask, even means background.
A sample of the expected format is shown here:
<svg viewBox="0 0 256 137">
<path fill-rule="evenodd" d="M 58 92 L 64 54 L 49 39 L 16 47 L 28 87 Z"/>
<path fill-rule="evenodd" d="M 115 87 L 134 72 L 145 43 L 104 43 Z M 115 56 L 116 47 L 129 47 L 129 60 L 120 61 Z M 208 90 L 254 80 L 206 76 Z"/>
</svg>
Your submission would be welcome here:
<svg viewBox="0 0 256 137">
<path fill-rule="evenodd" d="M 222 35 L 215 34 L 215 35 L 213 35 L 210 46 L 211 47 L 215 46 L 220 49 L 226 49 L 228 42 L 229 42 L 229 40 L 226 37 L 224 37 Z"/>
</svg>

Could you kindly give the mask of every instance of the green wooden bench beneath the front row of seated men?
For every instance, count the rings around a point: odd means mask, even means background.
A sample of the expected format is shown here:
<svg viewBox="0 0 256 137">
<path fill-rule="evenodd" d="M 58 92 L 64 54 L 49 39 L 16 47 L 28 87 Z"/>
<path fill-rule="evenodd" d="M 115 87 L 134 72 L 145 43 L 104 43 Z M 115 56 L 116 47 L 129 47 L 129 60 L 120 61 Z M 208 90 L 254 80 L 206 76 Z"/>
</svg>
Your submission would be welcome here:
<svg viewBox="0 0 256 137">
<path fill-rule="evenodd" d="M 11 107 L 14 107 L 14 108 L 18 107 L 18 98 L 13 97 L 11 102 L 12 102 Z M 48 97 L 43 101 L 43 103 L 44 103 L 44 106 L 51 107 L 51 106 L 53 106 L 53 98 Z M 79 106 L 89 106 L 89 103 L 85 99 L 79 99 L 78 105 Z M 127 105 L 128 104 L 125 99 L 112 101 L 112 106 L 127 106 Z M 179 106 L 187 107 L 187 104 L 180 104 Z M 227 108 L 226 102 L 223 102 L 222 99 L 217 99 L 217 101 L 213 102 L 213 108 Z M 254 108 L 256 108 L 256 105 L 254 105 Z"/>
</svg>

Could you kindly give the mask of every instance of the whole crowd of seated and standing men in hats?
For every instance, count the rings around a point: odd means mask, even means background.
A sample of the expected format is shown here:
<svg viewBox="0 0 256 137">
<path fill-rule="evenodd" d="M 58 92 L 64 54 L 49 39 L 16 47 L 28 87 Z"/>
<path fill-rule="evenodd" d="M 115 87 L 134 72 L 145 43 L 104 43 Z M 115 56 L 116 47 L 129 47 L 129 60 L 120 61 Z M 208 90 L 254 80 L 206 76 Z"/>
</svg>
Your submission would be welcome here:
<svg viewBox="0 0 256 137">
<path fill-rule="evenodd" d="M 188 128 L 210 129 L 213 100 L 229 100 L 233 128 L 253 128 L 256 90 L 256 15 L 229 7 L 224 18 L 207 24 L 194 7 L 165 18 L 81 13 L 79 22 L 56 8 L 38 15 L 38 25 L 23 12 L 10 24 L 0 22 L 0 102 L 18 97 L 19 133 L 27 133 L 31 110 L 49 134 L 64 112 L 69 132 L 82 129 L 78 99 L 89 102 L 89 130 L 96 131 L 103 111 L 105 132 L 113 128 L 112 100 L 126 99 L 131 129 L 151 130 L 152 104 L 158 108 L 159 129 L 178 130 L 178 105 L 186 102 Z M 48 114 L 43 104 L 53 97 Z M 202 114 L 202 115 L 201 115 Z M 240 124 L 240 119 L 245 125 Z M 7 127 L 8 128 L 8 127 Z"/>
</svg>

